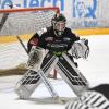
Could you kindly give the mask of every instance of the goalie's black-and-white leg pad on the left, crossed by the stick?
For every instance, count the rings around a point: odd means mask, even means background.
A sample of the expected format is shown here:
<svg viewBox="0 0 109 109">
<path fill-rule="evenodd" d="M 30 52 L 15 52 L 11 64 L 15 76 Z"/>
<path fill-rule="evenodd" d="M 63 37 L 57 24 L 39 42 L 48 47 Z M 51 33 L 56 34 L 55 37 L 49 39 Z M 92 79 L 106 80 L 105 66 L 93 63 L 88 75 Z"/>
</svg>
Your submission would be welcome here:
<svg viewBox="0 0 109 109">
<path fill-rule="evenodd" d="M 45 75 L 48 75 L 48 73 L 51 72 L 52 68 L 55 68 L 57 62 L 58 62 L 58 58 L 56 56 L 47 55 L 44 58 L 41 70 L 45 73 Z M 38 73 L 29 70 L 20 80 L 20 82 L 17 82 L 15 92 L 20 96 L 20 98 L 27 99 L 41 82 L 43 80 L 40 78 Z"/>
</svg>

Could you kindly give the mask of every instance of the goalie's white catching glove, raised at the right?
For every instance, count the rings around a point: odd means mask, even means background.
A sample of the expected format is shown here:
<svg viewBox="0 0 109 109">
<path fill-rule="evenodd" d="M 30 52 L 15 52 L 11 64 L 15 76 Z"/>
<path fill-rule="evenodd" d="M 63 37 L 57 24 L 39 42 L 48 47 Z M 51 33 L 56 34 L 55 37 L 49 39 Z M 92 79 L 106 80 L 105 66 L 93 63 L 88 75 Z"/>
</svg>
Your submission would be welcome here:
<svg viewBox="0 0 109 109">
<path fill-rule="evenodd" d="M 89 47 L 88 47 L 88 40 L 83 38 L 77 41 L 75 41 L 72 46 L 72 56 L 76 59 L 83 58 L 87 59 L 89 55 Z"/>
</svg>

